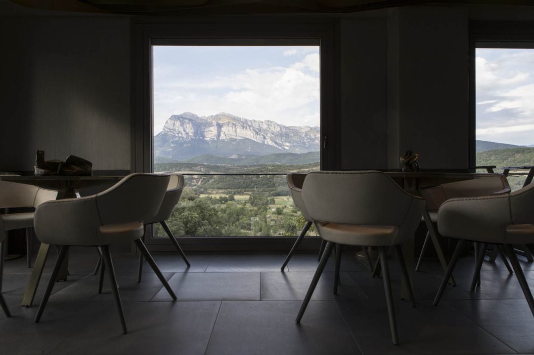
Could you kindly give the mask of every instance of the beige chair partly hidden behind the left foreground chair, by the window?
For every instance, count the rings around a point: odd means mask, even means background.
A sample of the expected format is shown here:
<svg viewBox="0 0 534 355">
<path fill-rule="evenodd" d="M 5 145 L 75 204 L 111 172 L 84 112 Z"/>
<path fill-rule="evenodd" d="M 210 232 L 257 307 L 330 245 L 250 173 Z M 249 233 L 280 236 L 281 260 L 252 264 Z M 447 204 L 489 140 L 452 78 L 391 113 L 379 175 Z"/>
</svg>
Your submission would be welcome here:
<svg viewBox="0 0 534 355">
<path fill-rule="evenodd" d="M 152 218 L 145 221 L 145 224 L 152 224 L 152 223 L 160 223 L 161 227 L 163 227 L 163 230 L 167 233 L 167 236 L 169 236 L 169 239 L 172 241 L 172 244 L 176 247 L 178 253 L 182 256 L 182 259 L 186 263 L 186 265 L 189 267 L 191 264 L 189 263 L 189 260 L 187 260 L 187 257 L 184 254 L 184 251 L 178 244 L 178 241 L 176 241 L 176 238 L 174 235 L 172 235 L 171 230 L 169 229 L 169 226 L 167 225 L 167 222 L 165 222 L 172 213 L 172 210 L 174 207 L 178 204 L 178 201 L 180 199 L 180 196 L 182 196 L 182 190 L 184 188 L 184 175 L 180 174 L 171 174 L 169 179 L 169 185 L 167 186 L 167 191 L 165 192 L 165 197 L 163 198 L 163 202 L 161 203 L 161 207 L 158 211 L 158 213 Z M 138 275 L 138 281 L 141 282 L 141 276 L 143 274 L 143 254 L 139 253 L 139 275 Z"/>
</svg>

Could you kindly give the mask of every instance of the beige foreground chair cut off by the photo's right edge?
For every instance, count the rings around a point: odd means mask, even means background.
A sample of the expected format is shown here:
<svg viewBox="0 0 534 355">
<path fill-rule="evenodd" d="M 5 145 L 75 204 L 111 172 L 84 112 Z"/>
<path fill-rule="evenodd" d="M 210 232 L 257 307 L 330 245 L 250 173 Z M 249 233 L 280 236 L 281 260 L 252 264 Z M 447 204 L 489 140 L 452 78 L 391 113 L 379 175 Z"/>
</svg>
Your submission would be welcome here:
<svg viewBox="0 0 534 355">
<path fill-rule="evenodd" d="M 482 244 L 471 289 L 475 288 L 480 276 L 485 247 L 488 244 L 502 245 L 534 315 L 534 300 L 513 250 L 514 244 L 530 245 L 534 242 L 532 211 L 534 211 L 534 184 L 503 195 L 453 198 L 445 201 L 438 211 L 438 230 L 443 236 L 457 238 L 458 245 L 439 286 L 434 305 L 437 305 L 443 294 L 446 280 L 458 261 L 465 241 L 471 240 Z"/>
</svg>

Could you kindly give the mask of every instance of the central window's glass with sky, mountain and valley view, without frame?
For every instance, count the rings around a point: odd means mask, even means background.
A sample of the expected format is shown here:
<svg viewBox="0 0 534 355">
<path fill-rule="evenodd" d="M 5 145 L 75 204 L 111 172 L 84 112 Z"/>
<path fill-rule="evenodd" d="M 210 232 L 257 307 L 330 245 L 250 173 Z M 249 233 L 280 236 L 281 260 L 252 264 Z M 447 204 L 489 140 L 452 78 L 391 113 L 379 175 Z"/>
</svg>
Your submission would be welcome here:
<svg viewBox="0 0 534 355">
<path fill-rule="evenodd" d="M 300 232 L 285 174 L 320 168 L 320 47 L 309 42 L 152 46 L 153 171 L 186 174 L 167 221 L 175 236 Z"/>
</svg>

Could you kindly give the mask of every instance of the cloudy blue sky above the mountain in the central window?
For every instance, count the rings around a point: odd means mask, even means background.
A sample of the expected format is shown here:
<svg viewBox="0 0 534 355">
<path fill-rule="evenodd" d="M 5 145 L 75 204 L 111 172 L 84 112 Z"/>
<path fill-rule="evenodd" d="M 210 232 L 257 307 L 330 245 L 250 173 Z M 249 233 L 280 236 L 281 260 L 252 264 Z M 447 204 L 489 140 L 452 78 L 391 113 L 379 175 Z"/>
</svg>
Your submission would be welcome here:
<svg viewBox="0 0 534 355">
<path fill-rule="evenodd" d="M 219 112 L 319 126 L 319 46 L 153 46 L 154 135 Z"/>
</svg>

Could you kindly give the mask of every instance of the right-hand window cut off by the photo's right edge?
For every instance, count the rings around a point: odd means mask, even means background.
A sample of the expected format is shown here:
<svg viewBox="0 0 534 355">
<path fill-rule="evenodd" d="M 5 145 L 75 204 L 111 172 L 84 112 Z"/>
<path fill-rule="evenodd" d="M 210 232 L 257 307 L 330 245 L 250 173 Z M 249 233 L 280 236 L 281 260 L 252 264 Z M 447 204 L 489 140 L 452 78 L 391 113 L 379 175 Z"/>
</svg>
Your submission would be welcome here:
<svg viewBox="0 0 534 355">
<path fill-rule="evenodd" d="M 475 49 L 476 166 L 534 164 L 534 49 L 528 43 L 480 42 Z M 510 171 L 513 190 L 528 169 Z"/>
</svg>

